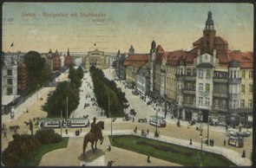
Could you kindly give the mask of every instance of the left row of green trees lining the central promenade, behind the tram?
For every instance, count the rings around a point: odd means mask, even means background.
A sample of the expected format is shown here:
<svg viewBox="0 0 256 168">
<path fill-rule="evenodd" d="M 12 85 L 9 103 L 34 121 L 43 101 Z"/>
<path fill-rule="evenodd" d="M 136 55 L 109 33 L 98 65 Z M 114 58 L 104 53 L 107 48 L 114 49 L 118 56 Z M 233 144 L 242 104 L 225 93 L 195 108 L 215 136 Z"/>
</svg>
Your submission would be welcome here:
<svg viewBox="0 0 256 168">
<path fill-rule="evenodd" d="M 69 81 L 58 83 L 56 90 L 48 94 L 43 110 L 48 112 L 49 117 L 60 117 L 62 113 L 68 115 L 79 105 L 79 87 L 82 86 L 83 70 L 81 67 L 75 69 L 69 68 Z"/>
</svg>

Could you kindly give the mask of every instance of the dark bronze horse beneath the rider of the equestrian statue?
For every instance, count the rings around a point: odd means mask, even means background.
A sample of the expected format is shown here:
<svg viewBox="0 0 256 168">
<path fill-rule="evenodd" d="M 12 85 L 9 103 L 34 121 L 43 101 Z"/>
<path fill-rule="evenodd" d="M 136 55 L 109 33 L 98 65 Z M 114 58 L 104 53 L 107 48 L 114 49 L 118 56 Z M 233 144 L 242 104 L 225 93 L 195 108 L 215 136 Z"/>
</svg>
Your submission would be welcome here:
<svg viewBox="0 0 256 168">
<path fill-rule="evenodd" d="M 104 129 L 104 121 L 97 122 L 97 132 L 96 134 L 94 132 L 88 132 L 83 139 L 83 151 L 82 154 L 84 155 L 85 149 L 87 147 L 88 142 L 91 143 L 91 147 L 93 152 L 95 152 L 95 149 L 97 149 L 97 141 L 98 139 L 101 140 L 101 145 L 103 143 L 103 136 L 102 136 L 102 129 Z M 95 148 L 94 148 L 95 144 Z"/>
</svg>

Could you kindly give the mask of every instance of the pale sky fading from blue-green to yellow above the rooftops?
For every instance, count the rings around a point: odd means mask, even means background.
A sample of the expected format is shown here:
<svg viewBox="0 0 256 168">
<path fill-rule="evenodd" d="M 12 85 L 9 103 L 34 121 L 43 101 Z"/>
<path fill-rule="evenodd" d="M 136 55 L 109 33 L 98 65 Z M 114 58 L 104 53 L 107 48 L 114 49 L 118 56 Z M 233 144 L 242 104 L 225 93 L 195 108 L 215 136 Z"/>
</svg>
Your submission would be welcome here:
<svg viewBox="0 0 256 168">
<path fill-rule="evenodd" d="M 166 51 L 186 49 L 203 35 L 209 10 L 230 49 L 253 51 L 250 3 L 3 3 L 3 51 L 87 52 L 96 43 L 106 52 L 133 45 L 148 53 L 153 40 Z"/>
</svg>

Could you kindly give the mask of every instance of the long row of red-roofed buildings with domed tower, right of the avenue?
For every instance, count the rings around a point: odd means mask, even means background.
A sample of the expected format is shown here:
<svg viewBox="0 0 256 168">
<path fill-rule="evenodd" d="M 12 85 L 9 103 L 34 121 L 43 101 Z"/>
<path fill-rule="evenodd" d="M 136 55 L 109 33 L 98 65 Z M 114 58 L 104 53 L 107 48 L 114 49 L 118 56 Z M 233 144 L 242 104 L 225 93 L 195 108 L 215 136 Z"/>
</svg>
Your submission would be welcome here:
<svg viewBox="0 0 256 168">
<path fill-rule="evenodd" d="M 174 117 L 229 126 L 252 123 L 253 53 L 229 50 L 228 42 L 216 36 L 211 11 L 203 36 L 192 48 L 167 52 L 153 41 L 148 56 L 133 52 L 131 46 L 122 63 L 126 81 L 136 83 L 142 94 L 161 99 Z M 121 54 L 118 62 L 121 77 Z"/>
</svg>

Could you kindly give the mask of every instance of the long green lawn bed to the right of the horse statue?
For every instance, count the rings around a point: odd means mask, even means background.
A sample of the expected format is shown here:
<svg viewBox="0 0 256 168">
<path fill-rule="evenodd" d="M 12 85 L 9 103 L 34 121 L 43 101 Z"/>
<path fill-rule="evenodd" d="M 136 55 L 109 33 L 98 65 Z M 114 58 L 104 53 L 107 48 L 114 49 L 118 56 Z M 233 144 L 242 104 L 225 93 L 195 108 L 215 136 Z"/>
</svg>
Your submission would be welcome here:
<svg viewBox="0 0 256 168">
<path fill-rule="evenodd" d="M 154 158 L 161 158 L 180 165 L 190 166 L 236 166 L 229 159 L 211 152 L 201 152 L 200 150 L 184 147 L 181 145 L 169 144 L 159 140 L 142 138 L 135 135 L 115 135 L 109 136 L 112 145 L 151 155 Z M 202 158 L 202 163 L 200 162 Z"/>
</svg>

